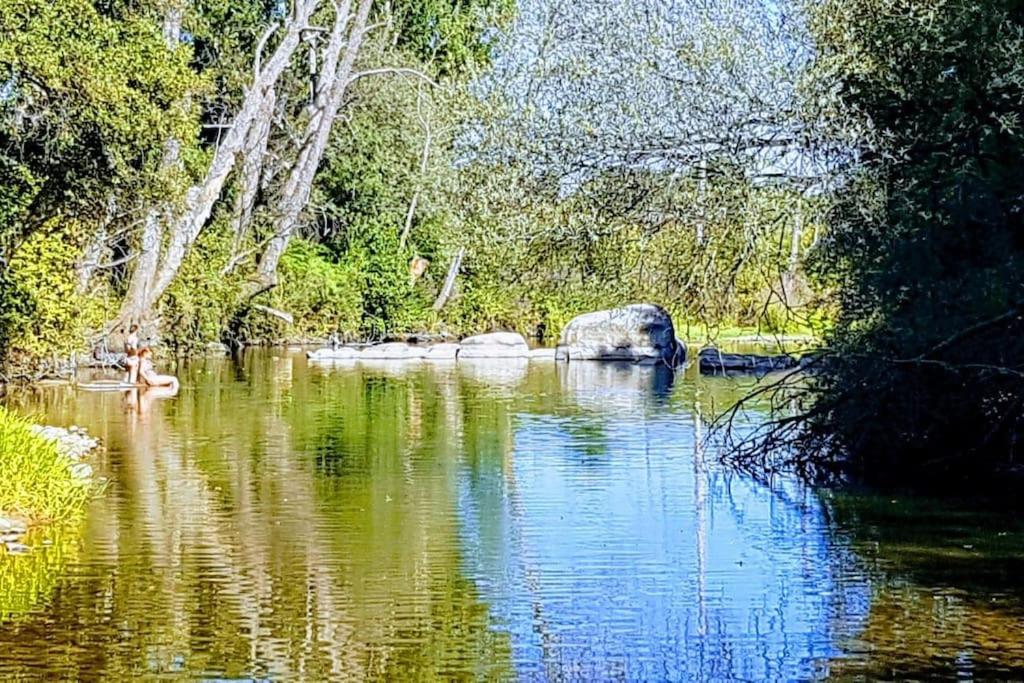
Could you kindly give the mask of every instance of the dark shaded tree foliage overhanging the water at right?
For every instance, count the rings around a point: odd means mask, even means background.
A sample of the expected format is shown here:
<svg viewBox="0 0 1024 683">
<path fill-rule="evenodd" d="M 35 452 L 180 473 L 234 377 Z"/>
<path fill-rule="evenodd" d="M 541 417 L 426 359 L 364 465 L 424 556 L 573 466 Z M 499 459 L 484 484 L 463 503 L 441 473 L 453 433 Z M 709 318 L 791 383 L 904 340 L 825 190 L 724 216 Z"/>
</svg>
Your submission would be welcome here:
<svg viewBox="0 0 1024 683">
<path fill-rule="evenodd" d="M 814 76 L 859 165 L 816 271 L 834 357 L 800 453 L 874 481 L 961 483 L 1024 436 L 1024 4 L 828 0 Z"/>
</svg>

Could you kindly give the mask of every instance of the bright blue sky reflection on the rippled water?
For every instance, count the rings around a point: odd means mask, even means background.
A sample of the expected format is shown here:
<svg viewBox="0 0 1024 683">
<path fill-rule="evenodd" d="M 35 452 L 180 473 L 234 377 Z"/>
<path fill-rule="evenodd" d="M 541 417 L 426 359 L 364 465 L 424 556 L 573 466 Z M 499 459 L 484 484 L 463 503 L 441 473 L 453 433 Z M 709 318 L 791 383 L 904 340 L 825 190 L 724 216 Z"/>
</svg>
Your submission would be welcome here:
<svg viewBox="0 0 1024 683">
<path fill-rule="evenodd" d="M 599 407 L 590 379 L 578 402 Z M 504 471 L 461 473 L 466 572 L 511 635 L 517 675 L 824 674 L 870 589 L 816 497 L 703 463 L 692 414 L 633 389 L 632 409 L 519 414 Z"/>
</svg>

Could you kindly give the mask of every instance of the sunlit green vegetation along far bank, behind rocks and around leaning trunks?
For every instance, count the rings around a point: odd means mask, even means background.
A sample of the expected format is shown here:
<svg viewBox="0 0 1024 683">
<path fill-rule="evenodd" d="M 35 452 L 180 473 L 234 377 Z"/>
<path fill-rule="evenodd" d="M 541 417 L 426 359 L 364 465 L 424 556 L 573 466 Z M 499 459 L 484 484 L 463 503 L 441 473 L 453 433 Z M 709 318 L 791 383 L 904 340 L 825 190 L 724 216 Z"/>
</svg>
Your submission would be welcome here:
<svg viewBox="0 0 1024 683">
<path fill-rule="evenodd" d="M 310 1 L 312 23 L 329 28 L 331 3 Z M 501 152 L 506 110 L 476 85 L 501 70 L 495 32 L 512 30 L 510 0 L 375 3 L 359 69 L 388 73 L 346 91 L 308 206 L 263 288 L 260 261 L 295 194 L 285 183 L 311 104 L 309 55 L 293 55 L 262 158 L 238 155 L 166 288 L 127 307 L 159 280 L 139 272 L 169 260 L 189 187 L 251 90 L 258 37 L 285 18 L 261 0 L 174 6 L 0 0 L 11 37 L 0 44 L 8 368 L 88 351 L 125 316 L 184 350 L 493 329 L 551 341 L 580 313 L 638 301 L 690 329 L 810 327 L 800 262 L 820 211 L 799 188 L 755 183 L 728 164 L 702 178 L 609 165 L 564 191 L 528 155 Z M 262 46 L 264 63 L 281 39 Z M 452 296 L 434 310 L 459 253 Z M 785 305 L 780 274 L 799 290 Z"/>
</svg>

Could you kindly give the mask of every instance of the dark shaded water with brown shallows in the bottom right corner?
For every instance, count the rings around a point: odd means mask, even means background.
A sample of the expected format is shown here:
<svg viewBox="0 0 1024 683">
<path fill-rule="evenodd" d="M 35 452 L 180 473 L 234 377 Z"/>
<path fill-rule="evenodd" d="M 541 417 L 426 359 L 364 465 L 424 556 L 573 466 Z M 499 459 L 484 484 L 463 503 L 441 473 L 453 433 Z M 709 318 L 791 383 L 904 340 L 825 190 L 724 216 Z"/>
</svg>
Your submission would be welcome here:
<svg viewBox="0 0 1024 683">
<path fill-rule="evenodd" d="M 1024 520 L 954 501 L 826 496 L 877 583 L 836 677 L 1019 678 Z"/>
</svg>

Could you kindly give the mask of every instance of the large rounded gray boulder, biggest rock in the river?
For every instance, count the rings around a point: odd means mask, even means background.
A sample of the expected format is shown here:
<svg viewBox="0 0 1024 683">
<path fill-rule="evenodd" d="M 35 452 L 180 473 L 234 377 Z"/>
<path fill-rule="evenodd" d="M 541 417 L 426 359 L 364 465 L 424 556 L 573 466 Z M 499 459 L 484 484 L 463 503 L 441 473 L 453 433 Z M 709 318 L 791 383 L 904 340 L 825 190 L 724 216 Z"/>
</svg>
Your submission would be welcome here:
<svg viewBox="0 0 1024 683">
<path fill-rule="evenodd" d="M 558 343 L 559 360 L 686 361 L 672 317 L 660 306 L 631 304 L 572 318 Z"/>
</svg>

